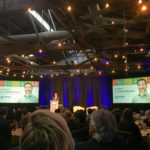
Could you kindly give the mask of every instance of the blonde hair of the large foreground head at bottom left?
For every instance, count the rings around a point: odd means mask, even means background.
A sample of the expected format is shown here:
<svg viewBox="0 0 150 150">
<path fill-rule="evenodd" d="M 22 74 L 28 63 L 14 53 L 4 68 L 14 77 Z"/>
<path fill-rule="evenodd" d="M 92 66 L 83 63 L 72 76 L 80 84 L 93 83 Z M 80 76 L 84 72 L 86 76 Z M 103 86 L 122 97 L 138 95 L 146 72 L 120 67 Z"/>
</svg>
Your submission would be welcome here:
<svg viewBox="0 0 150 150">
<path fill-rule="evenodd" d="M 74 150 L 74 140 L 66 121 L 47 110 L 37 110 L 29 118 L 20 139 L 20 150 Z"/>
</svg>

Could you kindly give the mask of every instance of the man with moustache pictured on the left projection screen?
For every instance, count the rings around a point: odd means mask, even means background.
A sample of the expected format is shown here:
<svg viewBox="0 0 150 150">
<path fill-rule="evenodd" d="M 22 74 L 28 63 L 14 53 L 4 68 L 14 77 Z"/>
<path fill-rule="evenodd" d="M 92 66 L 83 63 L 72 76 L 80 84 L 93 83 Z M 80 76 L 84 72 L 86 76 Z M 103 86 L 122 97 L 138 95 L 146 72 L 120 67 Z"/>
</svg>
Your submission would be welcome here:
<svg viewBox="0 0 150 150">
<path fill-rule="evenodd" d="M 33 90 L 32 83 L 25 83 L 24 84 L 25 95 L 24 95 L 24 97 L 22 97 L 18 100 L 18 103 L 21 103 L 21 102 L 35 103 L 35 102 L 38 102 L 38 98 L 32 94 L 32 90 Z"/>
</svg>

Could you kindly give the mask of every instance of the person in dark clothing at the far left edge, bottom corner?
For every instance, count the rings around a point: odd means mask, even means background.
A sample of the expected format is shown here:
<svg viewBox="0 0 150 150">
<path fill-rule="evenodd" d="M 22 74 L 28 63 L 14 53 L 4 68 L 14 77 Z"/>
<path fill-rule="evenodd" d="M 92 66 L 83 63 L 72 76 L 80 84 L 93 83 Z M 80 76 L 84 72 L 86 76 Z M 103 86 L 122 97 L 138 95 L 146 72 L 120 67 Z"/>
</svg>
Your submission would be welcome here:
<svg viewBox="0 0 150 150">
<path fill-rule="evenodd" d="M 7 107 L 0 107 L 0 149 L 8 150 L 11 142 L 10 122 L 6 120 Z"/>
</svg>

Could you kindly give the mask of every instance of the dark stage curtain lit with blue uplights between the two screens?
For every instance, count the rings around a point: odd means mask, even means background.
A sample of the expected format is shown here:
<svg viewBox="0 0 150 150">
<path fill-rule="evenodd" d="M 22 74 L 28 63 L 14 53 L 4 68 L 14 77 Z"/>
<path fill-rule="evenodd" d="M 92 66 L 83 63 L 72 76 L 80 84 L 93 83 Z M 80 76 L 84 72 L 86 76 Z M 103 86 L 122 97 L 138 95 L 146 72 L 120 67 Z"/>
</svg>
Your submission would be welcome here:
<svg viewBox="0 0 150 150">
<path fill-rule="evenodd" d="M 55 92 L 64 107 L 112 105 L 112 80 L 105 77 L 66 77 L 41 79 L 41 105 L 49 105 Z"/>
</svg>

